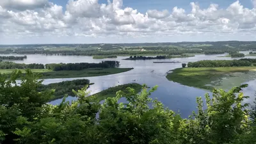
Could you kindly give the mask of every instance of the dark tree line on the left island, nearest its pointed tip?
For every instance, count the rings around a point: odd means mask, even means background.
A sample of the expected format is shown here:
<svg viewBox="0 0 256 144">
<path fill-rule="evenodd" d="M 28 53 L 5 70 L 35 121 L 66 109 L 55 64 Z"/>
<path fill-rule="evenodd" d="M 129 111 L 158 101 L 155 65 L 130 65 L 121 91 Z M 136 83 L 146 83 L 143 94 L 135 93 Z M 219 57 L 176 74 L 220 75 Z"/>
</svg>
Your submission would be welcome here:
<svg viewBox="0 0 256 144">
<path fill-rule="evenodd" d="M 51 63 L 45 68 L 54 71 L 60 70 L 83 70 L 85 68 L 115 68 L 120 65 L 120 61 L 102 61 L 101 63 Z"/>
</svg>

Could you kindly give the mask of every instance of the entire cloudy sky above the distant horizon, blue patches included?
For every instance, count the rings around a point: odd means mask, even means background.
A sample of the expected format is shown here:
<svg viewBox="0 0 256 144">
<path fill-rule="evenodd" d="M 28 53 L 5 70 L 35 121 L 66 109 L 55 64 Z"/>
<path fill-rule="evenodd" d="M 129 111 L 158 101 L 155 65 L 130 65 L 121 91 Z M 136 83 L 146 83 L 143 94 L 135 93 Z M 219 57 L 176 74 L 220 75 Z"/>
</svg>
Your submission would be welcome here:
<svg viewBox="0 0 256 144">
<path fill-rule="evenodd" d="M 0 44 L 256 40 L 256 0 L 0 0 Z"/>
</svg>

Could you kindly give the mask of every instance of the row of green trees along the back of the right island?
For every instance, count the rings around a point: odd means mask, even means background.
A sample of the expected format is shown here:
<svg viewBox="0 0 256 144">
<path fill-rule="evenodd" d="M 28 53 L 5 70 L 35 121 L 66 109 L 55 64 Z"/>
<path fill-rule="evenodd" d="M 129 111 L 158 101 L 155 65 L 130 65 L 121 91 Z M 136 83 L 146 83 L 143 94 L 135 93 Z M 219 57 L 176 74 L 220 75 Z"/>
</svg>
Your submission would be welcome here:
<svg viewBox="0 0 256 144">
<path fill-rule="evenodd" d="M 188 67 L 250 67 L 252 64 L 248 60 L 202 60 L 189 62 Z"/>
</svg>

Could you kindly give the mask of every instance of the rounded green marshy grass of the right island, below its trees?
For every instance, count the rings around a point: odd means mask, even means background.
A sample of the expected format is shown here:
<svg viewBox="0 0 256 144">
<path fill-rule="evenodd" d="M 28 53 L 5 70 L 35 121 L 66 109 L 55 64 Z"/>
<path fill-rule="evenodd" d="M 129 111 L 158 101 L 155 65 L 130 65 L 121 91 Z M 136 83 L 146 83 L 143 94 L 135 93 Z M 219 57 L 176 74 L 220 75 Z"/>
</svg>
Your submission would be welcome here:
<svg viewBox="0 0 256 144">
<path fill-rule="evenodd" d="M 212 90 L 223 77 L 230 77 L 236 72 L 255 71 L 256 67 L 218 67 L 218 68 L 177 68 L 167 74 L 169 81 L 205 90 Z M 212 83 L 214 82 L 214 83 Z M 244 81 L 245 82 L 245 81 Z M 237 83 L 239 86 L 240 83 Z"/>
</svg>

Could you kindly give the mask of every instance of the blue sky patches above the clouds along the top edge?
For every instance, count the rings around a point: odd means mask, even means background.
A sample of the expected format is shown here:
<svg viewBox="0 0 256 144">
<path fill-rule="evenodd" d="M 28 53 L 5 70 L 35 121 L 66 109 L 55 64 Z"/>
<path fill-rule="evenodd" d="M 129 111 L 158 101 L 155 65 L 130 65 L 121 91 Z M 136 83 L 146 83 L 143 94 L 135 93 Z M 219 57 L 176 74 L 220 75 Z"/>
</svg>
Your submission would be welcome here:
<svg viewBox="0 0 256 144">
<path fill-rule="evenodd" d="M 60 4 L 65 10 L 68 0 L 51 0 L 51 2 Z M 220 8 L 227 8 L 230 4 L 236 2 L 236 0 L 123 0 L 124 7 L 134 8 L 142 13 L 147 12 L 149 9 L 172 10 L 175 6 L 190 11 L 191 6 L 189 3 L 191 2 L 198 2 L 200 8 L 207 8 L 211 3 L 218 4 Z M 99 3 L 107 3 L 107 0 L 99 0 Z M 252 8 L 252 2 L 250 0 L 240 0 L 240 3 L 246 8 Z"/>
</svg>

